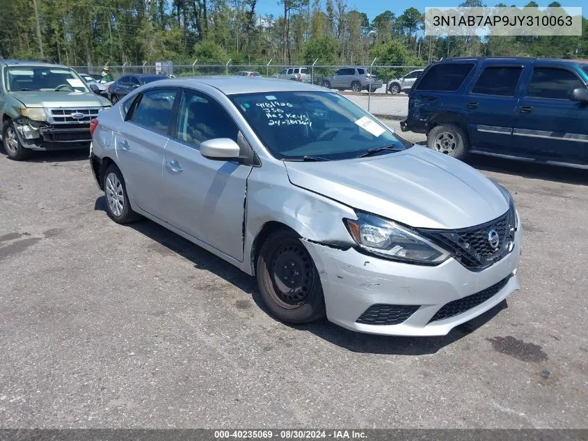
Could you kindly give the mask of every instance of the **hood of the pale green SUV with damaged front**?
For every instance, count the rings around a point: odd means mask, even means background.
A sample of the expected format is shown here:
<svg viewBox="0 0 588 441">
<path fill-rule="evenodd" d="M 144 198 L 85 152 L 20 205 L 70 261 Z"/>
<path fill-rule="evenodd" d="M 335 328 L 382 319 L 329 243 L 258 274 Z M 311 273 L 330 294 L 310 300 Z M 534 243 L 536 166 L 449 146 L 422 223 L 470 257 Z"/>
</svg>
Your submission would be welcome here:
<svg viewBox="0 0 588 441">
<path fill-rule="evenodd" d="M 93 92 L 19 91 L 10 92 L 10 95 L 22 102 L 26 107 L 102 107 L 110 105 L 106 98 L 102 98 Z"/>
</svg>

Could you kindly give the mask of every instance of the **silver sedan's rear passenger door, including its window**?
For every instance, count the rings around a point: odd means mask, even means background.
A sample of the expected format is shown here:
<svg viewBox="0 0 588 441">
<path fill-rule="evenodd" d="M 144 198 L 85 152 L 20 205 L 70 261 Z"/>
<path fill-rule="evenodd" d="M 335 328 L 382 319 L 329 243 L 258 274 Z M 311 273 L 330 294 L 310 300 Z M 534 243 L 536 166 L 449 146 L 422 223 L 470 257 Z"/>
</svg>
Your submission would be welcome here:
<svg viewBox="0 0 588 441">
<path fill-rule="evenodd" d="M 141 210 L 163 220 L 161 173 L 177 93 L 174 88 L 145 91 L 116 134 L 116 154 L 127 192 Z"/>
</svg>

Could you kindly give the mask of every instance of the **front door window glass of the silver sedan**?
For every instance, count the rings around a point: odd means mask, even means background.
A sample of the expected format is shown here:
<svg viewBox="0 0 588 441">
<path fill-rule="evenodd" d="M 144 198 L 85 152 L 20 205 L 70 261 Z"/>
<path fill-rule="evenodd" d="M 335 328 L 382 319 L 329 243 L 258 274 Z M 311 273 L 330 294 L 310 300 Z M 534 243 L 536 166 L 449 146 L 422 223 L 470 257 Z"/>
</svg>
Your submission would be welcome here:
<svg viewBox="0 0 588 441">
<path fill-rule="evenodd" d="M 186 92 L 177 116 L 177 139 L 200 148 L 200 143 L 216 138 L 237 142 L 239 129 L 227 111 L 214 99 Z"/>
</svg>

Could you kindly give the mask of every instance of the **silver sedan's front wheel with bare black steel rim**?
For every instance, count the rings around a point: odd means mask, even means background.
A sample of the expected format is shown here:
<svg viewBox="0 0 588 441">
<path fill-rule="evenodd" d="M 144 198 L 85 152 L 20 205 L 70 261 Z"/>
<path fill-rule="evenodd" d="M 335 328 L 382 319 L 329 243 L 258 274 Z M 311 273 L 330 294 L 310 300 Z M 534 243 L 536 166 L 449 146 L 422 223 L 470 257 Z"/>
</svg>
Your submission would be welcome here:
<svg viewBox="0 0 588 441">
<path fill-rule="evenodd" d="M 326 316 L 319 272 L 293 231 L 269 235 L 257 257 L 256 272 L 261 297 L 278 320 L 309 323 Z"/>
</svg>

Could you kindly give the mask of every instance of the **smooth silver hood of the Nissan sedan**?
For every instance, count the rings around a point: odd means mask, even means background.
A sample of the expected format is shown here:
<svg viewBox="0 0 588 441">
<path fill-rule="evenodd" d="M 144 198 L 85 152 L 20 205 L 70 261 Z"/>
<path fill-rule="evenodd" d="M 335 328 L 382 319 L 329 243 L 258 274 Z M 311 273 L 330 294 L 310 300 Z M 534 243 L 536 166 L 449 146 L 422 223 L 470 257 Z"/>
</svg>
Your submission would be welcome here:
<svg viewBox="0 0 588 441">
<path fill-rule="evenodd" d="M 482 173 L 421 146 L 357 160 L 284 163 L 292 184 L 409 226 L 461 229 L 509 209 Z"/>
</svg>

